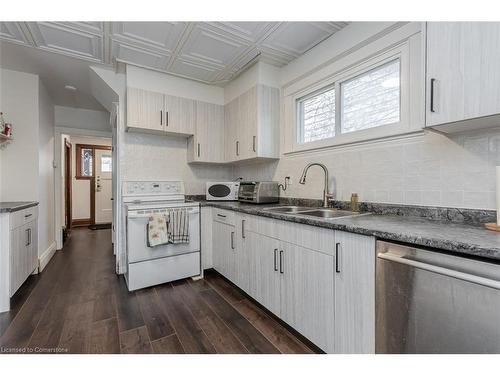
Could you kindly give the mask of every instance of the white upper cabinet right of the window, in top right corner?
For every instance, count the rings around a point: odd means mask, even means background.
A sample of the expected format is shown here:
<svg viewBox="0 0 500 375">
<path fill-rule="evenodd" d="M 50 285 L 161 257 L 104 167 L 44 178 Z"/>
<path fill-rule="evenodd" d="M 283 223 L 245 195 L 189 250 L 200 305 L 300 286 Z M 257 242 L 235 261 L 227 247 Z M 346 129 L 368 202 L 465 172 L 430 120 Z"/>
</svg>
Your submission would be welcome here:
<svg viewBox="0 0 500 375">
<path fill-rule="evenodd" d="M 427 24 L 426 126 L 455 132 L 500 124 L 500 23 Z M 472 121 L 473 120 L 473 121 Z"/>
</svg>

